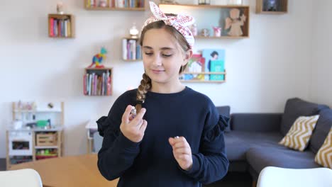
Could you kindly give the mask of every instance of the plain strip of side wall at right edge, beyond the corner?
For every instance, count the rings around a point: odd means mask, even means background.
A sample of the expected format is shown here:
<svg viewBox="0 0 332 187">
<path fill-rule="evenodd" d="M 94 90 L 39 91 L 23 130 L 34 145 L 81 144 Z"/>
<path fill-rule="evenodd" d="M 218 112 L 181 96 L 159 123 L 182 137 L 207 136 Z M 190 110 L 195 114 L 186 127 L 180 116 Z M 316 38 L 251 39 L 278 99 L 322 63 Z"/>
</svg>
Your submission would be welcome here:
<svg viewBox="0 0 332 187">
<path fill-rule="evenodd" d="M 314 6 L 314 43 L 311 64 L 310 97 L 332 107 L 332 1 L 317 1 Z"/>
</svg>

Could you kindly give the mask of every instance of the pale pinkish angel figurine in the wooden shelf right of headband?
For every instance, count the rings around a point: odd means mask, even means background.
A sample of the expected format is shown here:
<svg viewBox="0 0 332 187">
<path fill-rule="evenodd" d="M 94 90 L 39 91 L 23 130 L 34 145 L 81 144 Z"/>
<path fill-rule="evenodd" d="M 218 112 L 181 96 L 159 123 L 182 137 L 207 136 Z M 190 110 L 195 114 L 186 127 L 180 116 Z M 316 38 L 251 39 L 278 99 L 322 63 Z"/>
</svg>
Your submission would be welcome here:
<svg viewBox="0 0 332 187">
<path fill-rule="evenodd" d="M 225 29 L 231 28 L 229 30 L 228 35 L 231 36 L 240 36 L 243 35 L 241 26 L 245 23 L 245 16 L 242 14 L 240 16 L 240 10 L 238 8 L 232 8 L 231 11 L 229 11 L 229 16 L 226 18 L 226 25 Z"/>
</svg>

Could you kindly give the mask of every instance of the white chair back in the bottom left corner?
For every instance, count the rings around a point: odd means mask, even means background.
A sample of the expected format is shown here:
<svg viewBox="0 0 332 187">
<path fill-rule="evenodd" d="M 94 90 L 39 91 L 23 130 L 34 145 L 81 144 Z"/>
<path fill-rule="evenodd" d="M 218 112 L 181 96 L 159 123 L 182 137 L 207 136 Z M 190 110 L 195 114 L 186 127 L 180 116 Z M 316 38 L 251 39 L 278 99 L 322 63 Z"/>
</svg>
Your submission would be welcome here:
<svg viewBox="0 0 332 187">
<path fill-rule="evenodd" d="M 1 187 L 43 187 L 40 175 L 34 169 L 0 171 Z"/>
</svg>

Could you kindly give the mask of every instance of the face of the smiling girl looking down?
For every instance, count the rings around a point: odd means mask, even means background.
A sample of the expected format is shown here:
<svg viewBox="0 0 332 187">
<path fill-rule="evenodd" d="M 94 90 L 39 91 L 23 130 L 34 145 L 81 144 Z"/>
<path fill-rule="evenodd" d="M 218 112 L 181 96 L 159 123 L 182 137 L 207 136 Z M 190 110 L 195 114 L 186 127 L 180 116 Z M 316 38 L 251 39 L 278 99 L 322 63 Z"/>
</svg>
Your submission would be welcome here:
<svg viewBox="0 0 332 187">
<path fill-rule="evenodd" d="M 179 81 L 179 69 L 187 64 L 190 55 L 165 28 L 146 31 L 143 40 L 143 64 L 145 73 L 157 84 Z"/>
</svg>

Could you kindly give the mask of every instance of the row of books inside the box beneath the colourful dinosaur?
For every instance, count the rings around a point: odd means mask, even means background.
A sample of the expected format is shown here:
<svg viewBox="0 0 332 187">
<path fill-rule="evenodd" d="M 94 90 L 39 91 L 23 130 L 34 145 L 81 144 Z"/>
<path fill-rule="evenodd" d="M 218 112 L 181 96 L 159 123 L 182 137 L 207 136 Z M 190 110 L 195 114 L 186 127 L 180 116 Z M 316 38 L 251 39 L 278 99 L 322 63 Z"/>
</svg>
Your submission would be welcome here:
<svg viewBox="0 0 332 187">
<path fill-rule="evenodd" d="M 84 95 L 87 96 L 110 96 L 111 95 L 111 77 L 110 72 L 102 74 L 90 73 L 84 74 Z"/>
</svg>

